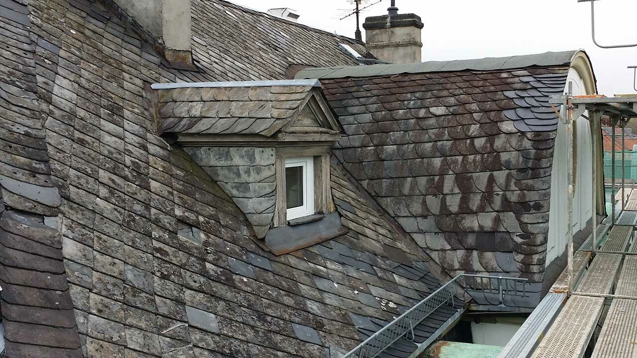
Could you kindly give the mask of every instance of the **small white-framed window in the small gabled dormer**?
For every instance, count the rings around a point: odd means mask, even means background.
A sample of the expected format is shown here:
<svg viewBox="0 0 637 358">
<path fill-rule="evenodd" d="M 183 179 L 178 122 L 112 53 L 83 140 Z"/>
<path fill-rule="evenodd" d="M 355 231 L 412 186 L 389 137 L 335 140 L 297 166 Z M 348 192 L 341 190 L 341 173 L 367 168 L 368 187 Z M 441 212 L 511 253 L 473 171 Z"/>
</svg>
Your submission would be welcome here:
<svg viewBox="0 0 637 358">
<path fill-rule="evenodd" d="M 287 220 L 314 213 L 313 157 L 285 159 L 285 207 Z"/>
</svg>

